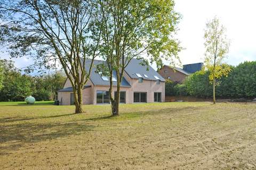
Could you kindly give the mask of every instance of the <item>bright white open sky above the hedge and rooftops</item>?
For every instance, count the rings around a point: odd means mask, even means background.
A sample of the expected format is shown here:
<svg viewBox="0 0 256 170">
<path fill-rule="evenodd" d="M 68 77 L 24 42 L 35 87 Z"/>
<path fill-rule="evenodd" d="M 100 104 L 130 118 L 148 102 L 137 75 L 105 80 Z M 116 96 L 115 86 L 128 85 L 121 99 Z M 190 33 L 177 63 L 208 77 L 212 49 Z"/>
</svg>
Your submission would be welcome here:
<svg viewBox="0 0 256 170">
<path fill-rule="evenodd" d="M 254 0 L 176 0 L 175 10 L 182 15 L 177 38 L 185 48 L 179 53 L 181 64 L 204 61 L 205 23 L 214 16 L 227 28 L 231 42 L 225 62 L 237 65 L 244 61 L 256 61 L 255 6 Z M 4 53 L 0 57 L 9 58 L 9 55 Z M 26 57 L 14 61 L 17 67 L 33 63 Z"/>
</svg>

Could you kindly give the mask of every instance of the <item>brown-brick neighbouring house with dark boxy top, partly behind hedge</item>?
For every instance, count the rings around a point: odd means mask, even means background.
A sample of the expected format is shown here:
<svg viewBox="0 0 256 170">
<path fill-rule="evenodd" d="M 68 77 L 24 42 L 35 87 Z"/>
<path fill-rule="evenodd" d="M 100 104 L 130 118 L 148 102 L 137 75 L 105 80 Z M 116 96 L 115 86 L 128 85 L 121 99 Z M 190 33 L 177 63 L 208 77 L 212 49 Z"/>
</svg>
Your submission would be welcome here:
<svg viewBox="0 0 256 170">
<path fill-rule="evenodd" d="M 183 69 L 179 67 L 171 67 L 169 65 L 164 65 L 158 73 L 165 79 L 171 80 L 173 82 L 182 83 L 189 74 L 195 73 L 201 70 L 203 63 L 194 63 L 183 65 Z"/>
</svg>

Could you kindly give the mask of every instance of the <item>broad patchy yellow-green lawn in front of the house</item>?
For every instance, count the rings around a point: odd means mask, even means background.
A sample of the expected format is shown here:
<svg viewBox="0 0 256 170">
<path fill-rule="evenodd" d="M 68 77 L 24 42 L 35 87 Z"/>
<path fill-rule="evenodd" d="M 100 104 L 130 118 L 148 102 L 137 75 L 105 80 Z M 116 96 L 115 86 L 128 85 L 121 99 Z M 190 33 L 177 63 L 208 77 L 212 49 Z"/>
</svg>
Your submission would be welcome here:
<svg viewBox="0 0 256 170">
<path fill-rule="evenodd" d="M 0 103 L 1 169 L 256 169 L 255 104 L 84 110 Z"/>
</svg>

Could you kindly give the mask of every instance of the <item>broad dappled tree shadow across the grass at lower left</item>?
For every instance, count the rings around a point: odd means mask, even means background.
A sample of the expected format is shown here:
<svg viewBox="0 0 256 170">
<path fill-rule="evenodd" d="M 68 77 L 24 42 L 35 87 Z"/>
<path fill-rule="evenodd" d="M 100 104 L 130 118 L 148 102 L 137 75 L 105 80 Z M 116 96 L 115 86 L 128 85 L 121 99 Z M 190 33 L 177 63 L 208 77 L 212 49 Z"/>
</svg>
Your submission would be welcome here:
<svg viewBox="0 0 256 170">
<path fill-rule="evenodd" d="M 93 131 L 94 125 L 81 122 L 29 123 L 1 126 L 0 143 L 35 143 Z"/>
</svg>

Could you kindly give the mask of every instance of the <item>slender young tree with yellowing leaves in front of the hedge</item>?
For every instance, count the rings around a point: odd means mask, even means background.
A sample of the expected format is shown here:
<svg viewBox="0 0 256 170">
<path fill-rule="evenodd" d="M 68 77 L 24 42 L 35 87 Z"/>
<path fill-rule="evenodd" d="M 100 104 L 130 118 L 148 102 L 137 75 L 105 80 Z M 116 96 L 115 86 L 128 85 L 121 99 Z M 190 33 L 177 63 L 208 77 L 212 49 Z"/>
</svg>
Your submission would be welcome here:
<svg viewBox="0 0 256 170">
<path fill-rule="evenodd" d="M 229 49 L 229 40 L 226 35 L 226 28 L 215 16 L 213 20 L 206 23 L 204 33 L 205 39 L 205 66 L 210 71 L 209 79 L 213 84 L 213 104 L 216 103 L 215 86 L 216 80 L 223 75 L 228 75 L 230 67 L 223 66 L 223 60 Z"/>
</svg>

